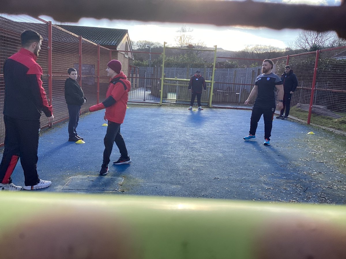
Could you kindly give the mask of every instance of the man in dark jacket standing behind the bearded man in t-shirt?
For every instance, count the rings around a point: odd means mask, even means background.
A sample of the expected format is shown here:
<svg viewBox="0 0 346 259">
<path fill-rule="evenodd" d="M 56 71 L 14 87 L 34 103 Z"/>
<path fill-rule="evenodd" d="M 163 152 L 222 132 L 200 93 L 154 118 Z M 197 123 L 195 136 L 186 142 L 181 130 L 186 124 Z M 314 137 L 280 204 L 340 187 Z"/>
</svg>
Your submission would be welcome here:
<svg viewBox="0 0 346 259">
<path fill-rule="evenodd" d="M 283 107 L 280 111 L 280 115 L 277 116 L 277 119 L 288 119 L 291 107 L 291 97 L 295 91 L 295 88 L 298 86 L 297 76 L 293 73 L 293 70 L 289 65 L 285 66 L 285 73 L 281 75 L 281 81 L 283 84 L 284 95 L 283 95 Z M 286 111 L 285 111 L 286 108 Z M 285 111 L 285 116 L 283 112 Z"/>
</svg>

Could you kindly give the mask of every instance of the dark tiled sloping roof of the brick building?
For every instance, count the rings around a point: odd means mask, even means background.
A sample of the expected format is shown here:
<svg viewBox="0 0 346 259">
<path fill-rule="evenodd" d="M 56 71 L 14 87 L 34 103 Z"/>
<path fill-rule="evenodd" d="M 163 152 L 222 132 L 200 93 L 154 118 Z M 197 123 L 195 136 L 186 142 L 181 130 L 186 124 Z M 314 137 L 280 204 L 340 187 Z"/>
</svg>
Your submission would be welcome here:
<svg viewBox="0 0 346 259">
<path fill-rule="evenodd" d="M 88 26 L 60 25 L 57 26 L 68 30 L 76 35 L 100 44 L 102 46 L 118 46 L 128 33 L 125 29 L 111 29 Z"/>
</svg>

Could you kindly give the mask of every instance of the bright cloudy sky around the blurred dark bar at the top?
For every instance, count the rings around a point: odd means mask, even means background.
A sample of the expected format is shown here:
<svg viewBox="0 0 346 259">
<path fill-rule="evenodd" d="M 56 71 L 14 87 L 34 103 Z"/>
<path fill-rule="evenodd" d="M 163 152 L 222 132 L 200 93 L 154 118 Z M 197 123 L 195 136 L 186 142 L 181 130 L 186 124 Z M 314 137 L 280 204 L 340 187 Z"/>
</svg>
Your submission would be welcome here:
<svg viewBox="0 0 346 259">
<path fill-rule="evenodd" d="M 266 2 L 339 6 L 341 0 L 268 0 Z M 40 16 L 40 18 L 52 21 L 53 23 L 59 23 L 48 16 Z M 291 42 L 297 38 L 299 32 L 301 32 L 301 30 L 298 29 L 273 30 L 267 28 L 245 28 L 234 26 L 218 27 L 189 23 L 158 23 L 108 19 L 97 20 L 93 18 L 82 18 L 78 23 L 64 24 L 127 29 L 131 41 L 148 40 L 160 42 L 162 44 L 163 42 L 167 42 L 167 46 L 176 45 L 175 37 L 179 35 L 176 31 L 183 25 L 186 25 L 186 27 L 193 29 L 193 31 L 189 33 L 194 38 L 191 43 L 202 41 L 207 47 L 217 45 L 218 48 L 232 51 L 242 50 L 246 46 L 251 45 L 271 45 L 279 48 L 290 47 Z M 203 37 L 203 35 L 208 37 Z"/>
</svg>

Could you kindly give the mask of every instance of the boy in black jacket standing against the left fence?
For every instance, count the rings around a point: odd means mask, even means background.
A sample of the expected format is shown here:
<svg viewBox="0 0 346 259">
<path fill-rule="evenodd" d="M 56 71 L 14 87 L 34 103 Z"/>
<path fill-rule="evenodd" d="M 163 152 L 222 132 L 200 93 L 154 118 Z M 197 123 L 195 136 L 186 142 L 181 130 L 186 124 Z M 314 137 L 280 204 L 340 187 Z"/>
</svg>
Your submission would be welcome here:
<svg viewBox="0 0 346 259">
<path fill-rule="evenodd" d="M 86 102 L 82 88 L 77 83 L 77 71 L 74 68 L 67 70 L 69 78 L 65 81 L 65 100 L 67 109 L 69 110 L 69 141 L 83 140 L 78 136 L 76 128 L 78 126 L 79 115 L 81 113 L 82 105 Z"/>
</svg>

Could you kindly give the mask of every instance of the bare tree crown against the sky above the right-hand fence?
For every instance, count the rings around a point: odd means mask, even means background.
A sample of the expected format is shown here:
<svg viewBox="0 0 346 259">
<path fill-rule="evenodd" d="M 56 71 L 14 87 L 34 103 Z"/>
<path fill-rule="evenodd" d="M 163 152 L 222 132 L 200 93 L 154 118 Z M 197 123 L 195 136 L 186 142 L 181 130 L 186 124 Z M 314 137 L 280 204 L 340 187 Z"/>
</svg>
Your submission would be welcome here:
<svg viewBox="0 0 346 259">
<path fill-rule="evenodd" d="M 333 39 L 334 35 L 331 32 L 302 31 L 293 41 L 293 45 L 295 48 L 309 52 L 328 48 Z"/>
</svg>

